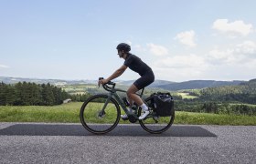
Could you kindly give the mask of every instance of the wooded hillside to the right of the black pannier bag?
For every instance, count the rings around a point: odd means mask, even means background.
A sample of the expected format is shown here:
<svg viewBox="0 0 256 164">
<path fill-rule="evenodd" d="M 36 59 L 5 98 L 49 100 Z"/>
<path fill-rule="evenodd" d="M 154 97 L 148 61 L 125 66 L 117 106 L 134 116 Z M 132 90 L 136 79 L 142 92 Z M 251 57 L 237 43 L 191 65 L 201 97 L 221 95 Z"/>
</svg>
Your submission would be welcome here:
<svg viewBox="0 0 256 164">
<path fill-rule="evenodd" d="M 189 90 L 193 99 L 176 99 L 176 110 L 216 114 L 256 115 L 256 79 L 237 86 Z"/>
</svg>

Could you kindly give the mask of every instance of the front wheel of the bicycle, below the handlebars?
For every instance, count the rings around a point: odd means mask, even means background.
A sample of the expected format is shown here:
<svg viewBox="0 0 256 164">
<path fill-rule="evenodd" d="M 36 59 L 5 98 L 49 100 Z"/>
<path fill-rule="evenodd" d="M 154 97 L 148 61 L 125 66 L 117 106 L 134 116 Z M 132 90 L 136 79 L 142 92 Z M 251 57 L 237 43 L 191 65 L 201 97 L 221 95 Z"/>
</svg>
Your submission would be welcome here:
<svg viewBox="0 0 256 164">
<path fill-rule="evenodd" d="M 80 108 L 82 126 L 94 134 L 110 132 L 117 126 L 120 115 L 118 103 L 107 95 L 92 96 Z"/>
</svg>

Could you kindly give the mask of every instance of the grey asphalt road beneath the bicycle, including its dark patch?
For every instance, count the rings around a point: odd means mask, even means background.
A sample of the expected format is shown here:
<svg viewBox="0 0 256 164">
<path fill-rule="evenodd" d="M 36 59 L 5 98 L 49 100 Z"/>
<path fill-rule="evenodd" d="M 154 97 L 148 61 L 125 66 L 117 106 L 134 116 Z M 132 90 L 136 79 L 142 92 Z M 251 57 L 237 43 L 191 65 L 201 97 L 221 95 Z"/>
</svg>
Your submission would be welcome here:
<svg viewBox="0 0 256 164">
<path fill-rule="evenodd" d="M 256 163 L 255 126 L 174 125 L 160 135 L 119 125 L 0 123 L 0 163 Z"/>
</svg>

